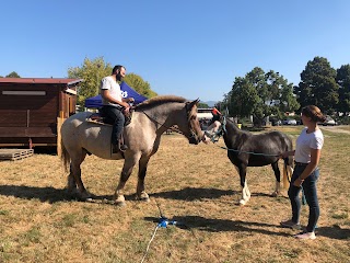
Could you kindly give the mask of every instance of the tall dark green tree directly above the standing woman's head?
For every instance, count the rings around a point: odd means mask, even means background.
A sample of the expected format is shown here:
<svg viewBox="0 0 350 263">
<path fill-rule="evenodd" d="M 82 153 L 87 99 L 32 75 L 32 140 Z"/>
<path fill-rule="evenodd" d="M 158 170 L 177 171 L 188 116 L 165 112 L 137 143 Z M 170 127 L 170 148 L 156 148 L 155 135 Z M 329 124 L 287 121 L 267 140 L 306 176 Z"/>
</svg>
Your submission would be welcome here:
<svg viewBox="0 0 350 263">
<path fill-rule="evenodd" d="M 301 82 L 294 87 L 301 106 L 313 104 L 331 114 L 339 100 L 336 75 L 326 58 L 315 57 L 308 61 L 301 73 Z"/>
</svg>

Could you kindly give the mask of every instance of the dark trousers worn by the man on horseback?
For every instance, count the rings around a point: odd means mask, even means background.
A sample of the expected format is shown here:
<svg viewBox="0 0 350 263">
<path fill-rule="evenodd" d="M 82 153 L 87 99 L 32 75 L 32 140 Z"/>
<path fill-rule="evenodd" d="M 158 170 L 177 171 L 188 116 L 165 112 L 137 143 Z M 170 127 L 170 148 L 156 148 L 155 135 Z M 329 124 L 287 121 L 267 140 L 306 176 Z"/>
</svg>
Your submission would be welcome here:
<svg viewBox="0 0 350 263">
<path fill-rule="evenodd" d="M 107 123 L 113 124 L 112 144 L 117 145 L 124 129 L 125 116 L 122 108 L 105 105 L 101 108 L 103 117 L 107 118 Z"/>
</svg>

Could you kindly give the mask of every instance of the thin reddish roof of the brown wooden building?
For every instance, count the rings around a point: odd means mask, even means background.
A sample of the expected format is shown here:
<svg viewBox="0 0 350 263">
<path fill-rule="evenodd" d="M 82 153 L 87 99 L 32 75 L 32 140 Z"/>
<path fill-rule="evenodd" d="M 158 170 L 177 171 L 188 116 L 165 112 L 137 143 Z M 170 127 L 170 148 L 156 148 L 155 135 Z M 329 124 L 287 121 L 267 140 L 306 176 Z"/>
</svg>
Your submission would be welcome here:
<svg viewBox="0 0 350 263">
<path fill-rule="evenodd" d="M 0 83 L 21 83 L 21 84 L 75 84 L 83 79 L 67 78 L 0 78 Z"/>
</svg>

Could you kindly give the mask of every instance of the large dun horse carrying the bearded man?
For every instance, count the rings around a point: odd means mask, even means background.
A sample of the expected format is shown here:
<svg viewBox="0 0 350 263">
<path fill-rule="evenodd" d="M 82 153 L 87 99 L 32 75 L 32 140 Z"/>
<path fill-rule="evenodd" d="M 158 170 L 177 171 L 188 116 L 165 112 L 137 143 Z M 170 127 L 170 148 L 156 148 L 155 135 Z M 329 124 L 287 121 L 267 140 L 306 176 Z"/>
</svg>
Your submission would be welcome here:
<svg viewBox="0 0 350 263">
<path fill-rule="evenodd" d="M 88 153 L 103 159 L 119 160 L 125 158 L 119 184 L 115 191 L 114 201 L 125 205 L 124 186 L 133 167 L 138 163 L 137 197 L 149 201 L 144 191 L 144 178 L 151 156 L 160 146 L 161 135 L 173 125 L 187 137 L 189 144 L 198 145 L 202 139 L 197 118 L 198 100 L 187 102 L 179 96 L 156 96 L 136 106 L 132 119 L 124 129 L 124 141 L 128 149 L 121 153 L 112 155 L 112 126 L 86 122 L 92 113 L 77 113 L 65 121 L 61 127 L 61 158 L 70 173 L 68 190 L 78 194 L 79 198 L 90 198 L 90 194 L 81 180 L 81 163 Z"/>
</svg>

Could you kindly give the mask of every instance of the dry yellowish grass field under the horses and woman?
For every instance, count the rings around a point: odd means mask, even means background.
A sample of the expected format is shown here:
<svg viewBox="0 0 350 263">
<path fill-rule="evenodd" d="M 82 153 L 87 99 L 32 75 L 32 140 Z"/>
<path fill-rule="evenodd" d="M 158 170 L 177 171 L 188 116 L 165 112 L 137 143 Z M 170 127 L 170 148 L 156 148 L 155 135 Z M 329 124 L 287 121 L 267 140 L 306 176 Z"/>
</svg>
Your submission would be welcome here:
<svg viewBox="0 0 350 263">
<path fill-rule="evenodd" d="M 295 140 L 301 127 L 280 127 Z M 0 262 L 141 262 L 160 211 L 180 225 L 159 228 L 144 262 L 349 262 L 350 135 L 324 130 L 317 239 L 300 241 L 279 222 L 290 217 L 270 167 L 250 168 L 252 198 L 237 206 L 238 174 L 217 145 L 188 145 L 164 135 L 145 180 L 150 203 L 135 201 L 137 169 L 126 185 L 127 206 L 70 201 L 55 155 L 0 162 Z M 219 141 L 223 146 L 223 141 Z M 122 161 L 88 157 L 89 191 L 112 199 Z M 307 222 L 302 208 L 302 225 Z"/>
</svg>

